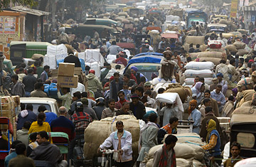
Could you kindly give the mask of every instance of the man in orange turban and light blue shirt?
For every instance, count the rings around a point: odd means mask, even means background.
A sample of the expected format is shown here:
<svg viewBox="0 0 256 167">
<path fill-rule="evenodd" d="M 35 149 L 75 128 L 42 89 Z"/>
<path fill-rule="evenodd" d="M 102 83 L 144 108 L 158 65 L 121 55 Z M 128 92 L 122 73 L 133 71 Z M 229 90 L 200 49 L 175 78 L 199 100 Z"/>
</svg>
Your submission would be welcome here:
<svg viewBox="0 0 256 167">
<path fill-rule="evenodd" d="M 196 109 L 196 99 L 191 100 L 189 102 L 189 107 L 188 107 L 188 121 L 193 120 L 193 133 L 199 134 L 200 131 L 200 125 L 201 125 L 201 112 Z"/>
</svg>

